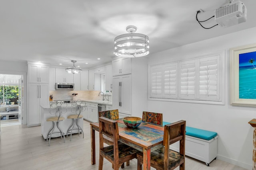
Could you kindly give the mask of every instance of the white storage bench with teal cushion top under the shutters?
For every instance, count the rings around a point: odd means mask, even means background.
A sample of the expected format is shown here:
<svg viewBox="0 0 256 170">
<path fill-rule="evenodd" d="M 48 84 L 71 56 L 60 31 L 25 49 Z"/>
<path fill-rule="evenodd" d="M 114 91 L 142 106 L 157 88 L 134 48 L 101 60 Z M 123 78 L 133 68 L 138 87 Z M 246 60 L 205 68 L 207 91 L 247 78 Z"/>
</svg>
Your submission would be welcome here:
<svg viewBox="0 0 256 170">
<path fill-rule="evenodd" d="M 163 125 L 168 124 L 164 122 Z M 206 131 L 186 126 L 185 154 L 201 160 L 209 166 L 217 157 L 218 135 L 216 132 Z M 179 143 L 170 146 L 172 150 L 179 151 Z"/>
</svg>

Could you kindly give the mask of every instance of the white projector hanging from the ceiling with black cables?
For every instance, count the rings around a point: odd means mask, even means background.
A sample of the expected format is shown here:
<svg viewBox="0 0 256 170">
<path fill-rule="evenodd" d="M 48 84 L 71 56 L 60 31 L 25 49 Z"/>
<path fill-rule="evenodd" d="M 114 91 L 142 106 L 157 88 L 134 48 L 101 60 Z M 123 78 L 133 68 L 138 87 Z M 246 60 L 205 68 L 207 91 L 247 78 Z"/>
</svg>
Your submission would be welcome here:
<svg viewBox="0 0 256 170">
<path fill-rule="evenodd" d="M 240 1 L 229 0 L 228 4 L 214 11 L 215 21 L 221 27 L 230 27 L 246 21 L 246 6 Z"/>
</svg>

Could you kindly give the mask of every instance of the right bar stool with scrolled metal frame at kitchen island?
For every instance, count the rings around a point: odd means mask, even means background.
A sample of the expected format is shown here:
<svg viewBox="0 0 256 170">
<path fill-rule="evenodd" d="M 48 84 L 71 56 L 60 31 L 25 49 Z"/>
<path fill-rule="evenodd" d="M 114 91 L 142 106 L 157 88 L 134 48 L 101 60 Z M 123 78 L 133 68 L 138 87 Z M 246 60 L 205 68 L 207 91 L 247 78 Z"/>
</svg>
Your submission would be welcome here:
<svg viewBox="0 0 256 170">
<path fill-rule="evenodd" d="M 67 130 L 67 137 L 68 137 L 68 133 L 70 133 L 70 141 L 72 140 L 73 130 L 78 130 L 78 135 L 79 135 L 80 130 L 81 130 L 81 133 L 83 133 L 83 138 L 84 138 L 84 131 L 78 125 L 78 120 L 83 118 L 83 115 L 81 115 L 81 111 L 85 111 L 85 105 L 86 105 L 85 101 L 82 101 L 80 99 L 77 100 L 76 103 L 72 104 L 73 108 L 71 109 L 71 112 L 76 113 L 76 114 L 68 116 L 68 119 L 72 119 L 72 123 L 71 123 L 70 127 Z M 74 129 L 75 124 L 76 124 L 77 128 Z M 70 129 L 71 127 L 72 127 L 72 129 Z"/>
</svg>

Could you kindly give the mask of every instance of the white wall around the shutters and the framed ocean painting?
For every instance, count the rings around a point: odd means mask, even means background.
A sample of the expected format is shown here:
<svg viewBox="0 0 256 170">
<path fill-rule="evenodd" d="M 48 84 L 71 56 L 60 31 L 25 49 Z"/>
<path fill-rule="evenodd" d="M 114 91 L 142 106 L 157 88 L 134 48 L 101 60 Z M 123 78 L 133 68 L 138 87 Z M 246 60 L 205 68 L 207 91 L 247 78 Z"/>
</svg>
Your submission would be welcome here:
<svg viewBox="0 0 256 170">
<path fill-rule="evenodd" d="M 151 54 L 148 60 L 148 64 L 153 65 L 215 51 L 226 52 L 225 105 L 148 100 L 148 111 L 163 113 L 164 121 L 184 119 L 187 126 L 217 132 L 217 158 L 246 169 L 252 169 L 253 128 L 248 121 L 256 117 L 256 108 L 230 105 L 230 48 L 256 43 L 255 32 L 256 27 L 184 45 Z"/>
</svg>

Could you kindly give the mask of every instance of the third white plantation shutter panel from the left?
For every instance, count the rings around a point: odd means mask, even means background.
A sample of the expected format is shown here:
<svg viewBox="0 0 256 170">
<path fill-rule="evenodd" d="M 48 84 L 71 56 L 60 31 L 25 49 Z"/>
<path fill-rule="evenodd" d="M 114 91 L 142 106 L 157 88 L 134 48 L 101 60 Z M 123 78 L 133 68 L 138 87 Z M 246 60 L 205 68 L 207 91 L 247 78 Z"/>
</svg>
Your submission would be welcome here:
<svg viewBox="0 0 256 170">
<path fill-rule="evenodd" d="M 180 62 L 180 95 L 182 99 L 194 99 L 196 94 L 196 60 Z"/>
</svg>

